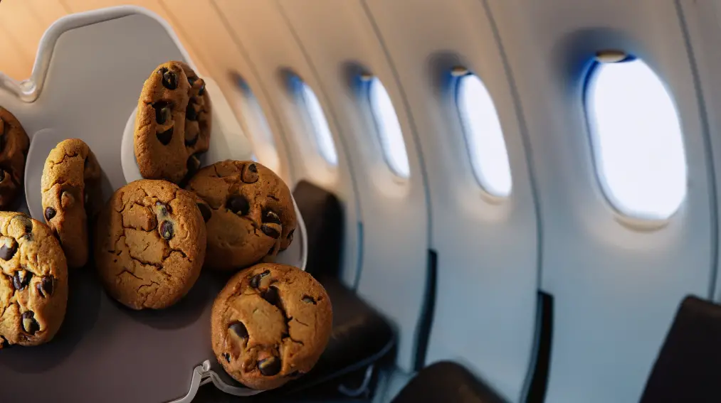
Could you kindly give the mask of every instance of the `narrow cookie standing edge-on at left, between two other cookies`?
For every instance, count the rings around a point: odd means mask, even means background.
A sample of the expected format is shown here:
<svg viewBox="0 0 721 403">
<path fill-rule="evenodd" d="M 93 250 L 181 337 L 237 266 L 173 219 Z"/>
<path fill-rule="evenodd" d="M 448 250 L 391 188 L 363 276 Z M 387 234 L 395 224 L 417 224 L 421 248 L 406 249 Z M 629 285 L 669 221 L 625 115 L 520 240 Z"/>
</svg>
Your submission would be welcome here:
<svg viewBox="0 0 721 403">
<path fill-rule="evenodd" d="M 89 255 L 88 217 L 102 203 L 100 166 L 85 142 L 63 140 L 45 160 L 43 215 L 60 239 L 68 267 L 85 266 Z"/>
</svg>

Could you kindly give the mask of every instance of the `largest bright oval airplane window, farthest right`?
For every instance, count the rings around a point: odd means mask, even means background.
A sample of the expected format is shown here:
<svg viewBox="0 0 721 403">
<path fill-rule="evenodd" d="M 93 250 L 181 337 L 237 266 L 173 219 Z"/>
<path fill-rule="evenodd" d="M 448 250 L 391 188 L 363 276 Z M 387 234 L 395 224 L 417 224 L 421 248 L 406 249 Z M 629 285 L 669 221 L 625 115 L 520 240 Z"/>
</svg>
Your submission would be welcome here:
<svg viewBox="0 0 721 403">
<path fill-rule="evenodd" d="M 666 219 L 686 197 L 686 154 L 671 95 L 641 60 L 596 63 L 585 109 L 596 172 L 622 214 Z"/>
</svg>

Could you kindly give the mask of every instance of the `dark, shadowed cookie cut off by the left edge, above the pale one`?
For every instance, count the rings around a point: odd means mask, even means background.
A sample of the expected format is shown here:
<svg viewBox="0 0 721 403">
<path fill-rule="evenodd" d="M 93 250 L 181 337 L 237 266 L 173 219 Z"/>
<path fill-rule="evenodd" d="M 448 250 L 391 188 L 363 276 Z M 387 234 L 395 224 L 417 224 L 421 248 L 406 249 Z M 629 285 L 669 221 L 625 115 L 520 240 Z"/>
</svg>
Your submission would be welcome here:
<svg viewBox="0 0 721 403">
<path fill-rule="evenodd" d="M 0 107 L 0 209 L 7 209 L 22 189 L 28 147 L 22 124 Z"/>
</svg>

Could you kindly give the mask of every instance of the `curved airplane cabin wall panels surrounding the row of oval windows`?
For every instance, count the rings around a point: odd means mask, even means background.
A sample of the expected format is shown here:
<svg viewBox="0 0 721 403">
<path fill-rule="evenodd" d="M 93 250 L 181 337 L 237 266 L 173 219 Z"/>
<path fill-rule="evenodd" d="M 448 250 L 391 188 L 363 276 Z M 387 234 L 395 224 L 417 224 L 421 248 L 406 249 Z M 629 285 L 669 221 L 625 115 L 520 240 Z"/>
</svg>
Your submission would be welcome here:
<svg viewBox="0 0 721 403">
<path fill-rule="evenodd" d="M 2 0 L 0 71 L 30 76 L 55 19 L 118 4 L 173 27 L 261 163 L 343 202 L 340 277 L 397 327 L 403 371 L 459 361 L 523 401 L 542 291 L 552 341 L 548 377 L 534 384 L 547 401 L 634 402 L 681 298 L 720 299 L 721 1 Z M 673 152 L 685 161 L 684 194 L 663 217 L 619 207 L 599 168 L 613 161 L 598 160 L 609 150 L 598 150 L 588 73 L 603 50 L 642 60 L 676 109 L 654 112 L 677 114 Z M 500 196 L 469 150 L 474 112 L 459 110 L 458 95 L 469 74 L 493 106 L 477 113 L 497 114 L 508 153 Z M 373 80 L 392 104 L 407 173 L 388 163 L 388 128 L 364 92 Z M 641 126 L 614 127 L 623 138 Z M 634 152 L 663 154 L 655 145 Z"/>
</svg>

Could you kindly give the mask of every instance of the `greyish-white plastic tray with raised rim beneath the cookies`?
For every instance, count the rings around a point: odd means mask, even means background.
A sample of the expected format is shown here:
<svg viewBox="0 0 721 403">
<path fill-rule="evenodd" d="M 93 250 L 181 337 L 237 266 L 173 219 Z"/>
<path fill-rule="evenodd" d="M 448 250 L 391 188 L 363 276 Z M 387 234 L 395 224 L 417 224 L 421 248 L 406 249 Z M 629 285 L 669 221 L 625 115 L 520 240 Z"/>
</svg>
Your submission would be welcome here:
<svg viewBox="0 0 721 403">
<path fill-rule="evenodd" d="M 93 150 L 104 174 L 105 199 L 139 178 L 132 124 L 143 81 L 167 60 L 187 53 L 168 25 L 133 6 L 64 17 L 45 32 L 32 78 L 17 83 L 0 73 L 0 105 L 30 135 L 25 194 L 18 209 L 43 221 L 40 176 L 50 149 L 76 137 Z M 213 83 L 213 104 L 223 102 Z M 211 150 L 203 163 L 247 160 L 241 134 L 213 109 Z M 222 109 L 221 109 L 222 110 Z M 278 261 L 305 268 L 306 228 Z M 0 402 L 190 402 L 203 383 L 238 396 L 256 394 L 232 381 L 211 350 L 210 311 L 227 275 L 203 272 L 174 307 L 135 312 L 112 301 L 92 263 L 70 272 L 68 312 L 56 338 L 34 348 L 0 351 Z"/>
</svg>

